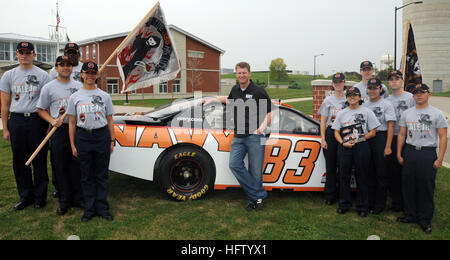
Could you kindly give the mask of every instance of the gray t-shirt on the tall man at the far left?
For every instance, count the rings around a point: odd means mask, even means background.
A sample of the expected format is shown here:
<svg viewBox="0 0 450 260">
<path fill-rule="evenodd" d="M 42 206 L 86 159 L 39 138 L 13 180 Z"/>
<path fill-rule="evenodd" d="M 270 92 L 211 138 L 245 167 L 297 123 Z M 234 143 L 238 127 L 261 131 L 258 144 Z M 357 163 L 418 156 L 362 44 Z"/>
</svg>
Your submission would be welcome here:
<svg viewBox="0 0 450 260">
<path fill-rule="evenodd" d="M 19 66 L 3 74 L 0 91 L 11 95 L 10 112 L 36 113 L 41 89 L 48 82 L 48 73 L 40 68 L 22 69 Z"/>
</svg>

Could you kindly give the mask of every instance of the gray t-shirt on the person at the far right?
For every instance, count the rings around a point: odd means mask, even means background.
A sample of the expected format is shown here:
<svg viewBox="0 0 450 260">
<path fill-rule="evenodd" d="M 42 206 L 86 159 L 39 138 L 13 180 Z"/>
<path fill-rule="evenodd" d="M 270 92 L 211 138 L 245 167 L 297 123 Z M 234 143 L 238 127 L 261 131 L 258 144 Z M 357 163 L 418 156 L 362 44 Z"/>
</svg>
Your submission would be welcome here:
<svg viewBox="0 0 450 260">
<path fill-rule="evenodd" d="M 424 109 L 412 107 L 406 110 L 399 125 L 406 127 L 407 144 L 422 147 L 437 147 L 438 129 L 448 128 L 442 111 L 433 106 Z"/>
</svg>

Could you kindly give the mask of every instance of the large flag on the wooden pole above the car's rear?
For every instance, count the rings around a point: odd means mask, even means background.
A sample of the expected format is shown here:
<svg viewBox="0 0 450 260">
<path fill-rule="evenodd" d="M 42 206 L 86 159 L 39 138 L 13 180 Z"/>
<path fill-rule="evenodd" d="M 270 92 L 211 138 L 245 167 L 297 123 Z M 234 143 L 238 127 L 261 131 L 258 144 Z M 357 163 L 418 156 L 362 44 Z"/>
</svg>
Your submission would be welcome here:
<svg viewBox="0 0 450 260">
<path fill-rule="evenodd" d="M 127 39 L 117 51 L 117 65 L 124 82 L 122 93 L 177 77 L 180 62 L 159 3 Z"/>
</svg>

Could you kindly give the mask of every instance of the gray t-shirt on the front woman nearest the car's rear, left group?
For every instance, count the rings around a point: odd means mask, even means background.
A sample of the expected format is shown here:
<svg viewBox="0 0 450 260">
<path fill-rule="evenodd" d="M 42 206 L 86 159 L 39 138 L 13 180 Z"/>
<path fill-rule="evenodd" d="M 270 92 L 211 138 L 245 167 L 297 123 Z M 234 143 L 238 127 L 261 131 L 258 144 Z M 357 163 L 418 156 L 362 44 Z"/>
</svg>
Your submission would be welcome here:
<svg viewBox="0 0 450 260">
<path fill-rule="evenodd" d="M 70 96 L 67 114 L 76 117 L 78 127 L 93 130 L 108 124 L 106 117 L 114 114 L 114 107 L 103 90 L 82 88 Z"/>
</svg>

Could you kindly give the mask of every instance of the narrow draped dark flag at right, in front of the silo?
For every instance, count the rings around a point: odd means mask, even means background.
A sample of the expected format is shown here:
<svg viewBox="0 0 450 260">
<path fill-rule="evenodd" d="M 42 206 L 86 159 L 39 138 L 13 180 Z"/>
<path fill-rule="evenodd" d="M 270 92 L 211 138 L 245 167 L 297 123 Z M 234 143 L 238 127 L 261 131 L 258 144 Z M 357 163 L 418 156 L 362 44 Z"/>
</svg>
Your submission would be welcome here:
<svg viewBox="0 0 450 260">
<path fill-rule="evenodd" d="M 404 48 L 404 57 L 402 59 L 402 70 L 404 70 L 405 90 L 410 91 L 417 84 L 422 84 L 422 72 L 420 70 L 419 55 L 417 53 L 416 42 L 414 40 L 414 31 L 411 23 L 407 23 L 405 32 L 406 47 Z"/>
</svg>

